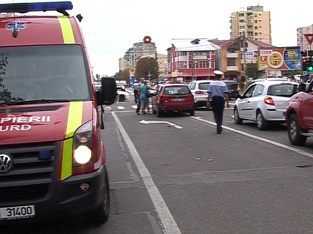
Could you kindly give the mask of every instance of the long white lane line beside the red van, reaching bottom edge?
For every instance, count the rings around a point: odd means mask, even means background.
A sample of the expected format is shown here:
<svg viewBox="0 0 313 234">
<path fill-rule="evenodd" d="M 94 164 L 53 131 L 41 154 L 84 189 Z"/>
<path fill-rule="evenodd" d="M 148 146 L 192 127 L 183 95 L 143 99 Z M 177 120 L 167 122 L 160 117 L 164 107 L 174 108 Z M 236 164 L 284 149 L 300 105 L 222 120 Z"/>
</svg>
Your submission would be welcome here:
<svg viewBox="0 0 313 234">
<path fill-rule="evenodd" d="M 165 203 L 159 189 L 156 187 L 156 184 L 154 183 L 150 172 L 146 168 L 146 165 L 143 163 L 138 151 L 136 150 L 135 145 L 128 136 L 120 119 L 117 117 L 115 112 L 112 112 L 112 116 L 115 119 L 116 124 L 120 129 L 121 134 L 127 144 L 131 157 L 133 158 L 136 167 L 138 168 L 140 176 L 147 188 L 147 191 L 151 197 L 151 201 L 156 209 L 158 217 L 160 218 L 165 231 L 168 234 L 182 234 L 181 231 L 179 230 L 179 227 L 177 226 L 174 217 L 172 216 L 170 210 L 168 209 L 167 204 Z"/>
</svg>

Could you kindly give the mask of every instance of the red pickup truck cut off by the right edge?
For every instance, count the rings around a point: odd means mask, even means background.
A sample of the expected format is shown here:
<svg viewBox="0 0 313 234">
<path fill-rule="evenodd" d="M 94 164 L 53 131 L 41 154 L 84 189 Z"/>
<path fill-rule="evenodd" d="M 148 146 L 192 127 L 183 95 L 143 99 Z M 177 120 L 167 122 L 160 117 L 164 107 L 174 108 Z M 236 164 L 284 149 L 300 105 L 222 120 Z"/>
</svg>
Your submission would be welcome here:
<svg viewBox="0 0 313 234">
<path fill-rule="evenodd" d="M 300 84 L 299 91 L 291 97 L 286 110 L 288 137 L 293 145 L 303 145 L 307 137 L 313 136 L 313 80 L 307 88 Z"/>
</svg>

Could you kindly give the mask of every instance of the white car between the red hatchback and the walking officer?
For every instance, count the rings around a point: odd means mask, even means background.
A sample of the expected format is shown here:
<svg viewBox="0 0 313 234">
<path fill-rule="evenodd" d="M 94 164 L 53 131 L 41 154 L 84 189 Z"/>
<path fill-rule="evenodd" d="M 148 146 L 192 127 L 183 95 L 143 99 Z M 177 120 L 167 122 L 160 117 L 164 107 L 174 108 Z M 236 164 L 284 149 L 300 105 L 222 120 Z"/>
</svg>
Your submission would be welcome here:
<svg viewBox="0 0 313 234">
<path fill-rule="evenodd" d="M 207 106 L 208 86 L 211 80 L 194 80 L 188 84 L 189 89 L 194 97 L 195 107 Z"/>
</svg>

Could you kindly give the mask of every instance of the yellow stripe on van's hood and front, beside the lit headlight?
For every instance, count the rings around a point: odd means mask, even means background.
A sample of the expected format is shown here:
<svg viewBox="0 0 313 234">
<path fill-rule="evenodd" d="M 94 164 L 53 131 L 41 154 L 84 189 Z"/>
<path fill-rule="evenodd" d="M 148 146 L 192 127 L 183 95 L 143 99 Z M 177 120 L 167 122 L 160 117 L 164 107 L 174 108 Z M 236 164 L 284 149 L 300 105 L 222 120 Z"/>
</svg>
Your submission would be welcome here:
<svg viewBox="0 0 313 234">
<path fill-rule="evenodd" d="M 69 178 L 72 175 L 73 136 L 75 131 L 82 124 L 81 123 L 82 119 L 83 119 L 83 102 L 82 101 L 70 102 L 65 140 L 63 142 L 61 180 Z"/>
</svg>

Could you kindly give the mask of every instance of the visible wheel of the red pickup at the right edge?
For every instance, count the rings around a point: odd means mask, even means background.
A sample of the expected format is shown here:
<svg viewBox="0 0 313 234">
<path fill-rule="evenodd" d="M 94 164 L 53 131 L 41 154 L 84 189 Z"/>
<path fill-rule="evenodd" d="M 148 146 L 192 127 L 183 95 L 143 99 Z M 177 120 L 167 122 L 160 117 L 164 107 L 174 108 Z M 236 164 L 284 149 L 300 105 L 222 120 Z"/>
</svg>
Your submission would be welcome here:
<svg viewBox="0 0 313 234">
<path fill-rule="evenodd" d="M 291 144 L 293 145 L 305 144 L 306 137 L 301 135 L 301 129 L 296 114 L 290 115 L 287 128 L 288 128 L 288 137 Z"/>
</svg>

